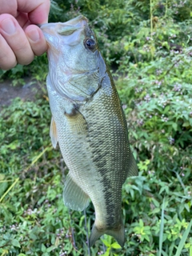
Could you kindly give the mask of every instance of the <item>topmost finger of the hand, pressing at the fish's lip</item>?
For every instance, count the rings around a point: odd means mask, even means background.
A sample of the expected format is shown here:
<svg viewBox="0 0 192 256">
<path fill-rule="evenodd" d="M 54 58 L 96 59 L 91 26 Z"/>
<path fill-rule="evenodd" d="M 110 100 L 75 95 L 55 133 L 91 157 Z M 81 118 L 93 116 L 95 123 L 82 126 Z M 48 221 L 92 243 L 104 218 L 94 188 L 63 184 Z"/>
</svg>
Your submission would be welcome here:
<svg viewBox="0 0 192 256">
<path fill-rule="evenodd" d="M 18 0 L 18 10 L 28 13 L 31 23 L 46 23 L 48 22 L 48 14 L 50 11 L 50 0 Z"/>
</svg>

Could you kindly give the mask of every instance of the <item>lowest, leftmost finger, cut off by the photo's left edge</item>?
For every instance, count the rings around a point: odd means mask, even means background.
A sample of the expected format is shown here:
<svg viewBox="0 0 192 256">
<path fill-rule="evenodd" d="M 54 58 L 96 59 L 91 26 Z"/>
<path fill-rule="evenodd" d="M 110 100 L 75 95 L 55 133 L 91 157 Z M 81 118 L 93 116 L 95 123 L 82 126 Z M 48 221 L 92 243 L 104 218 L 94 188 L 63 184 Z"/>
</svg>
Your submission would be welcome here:
<svg viewBox="0 0 192 256">
<path fill-rule="evenodd" d="M 7 44 L 5 38 L 0 34 L 0 69 L 10 70 L 17 65 L 13 50 Z"/>
</svg>

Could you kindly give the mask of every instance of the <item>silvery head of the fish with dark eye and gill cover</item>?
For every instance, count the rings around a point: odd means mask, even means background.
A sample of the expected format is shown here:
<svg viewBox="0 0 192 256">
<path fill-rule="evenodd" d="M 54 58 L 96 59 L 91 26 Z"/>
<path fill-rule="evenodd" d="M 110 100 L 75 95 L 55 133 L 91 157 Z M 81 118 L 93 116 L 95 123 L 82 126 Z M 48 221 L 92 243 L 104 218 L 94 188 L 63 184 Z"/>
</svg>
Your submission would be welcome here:
<svg viewBox="0 0 192 256">
<path fill-rule="evenodd" d="M 87 19 L 81 15 L 40 27 L 48 43 L 52 84 L 66 98 L 83 101 L 97 90 L 98 81 L 92 79 L 98 79 L 99 70 L 98 42 Z"/>
</svg>

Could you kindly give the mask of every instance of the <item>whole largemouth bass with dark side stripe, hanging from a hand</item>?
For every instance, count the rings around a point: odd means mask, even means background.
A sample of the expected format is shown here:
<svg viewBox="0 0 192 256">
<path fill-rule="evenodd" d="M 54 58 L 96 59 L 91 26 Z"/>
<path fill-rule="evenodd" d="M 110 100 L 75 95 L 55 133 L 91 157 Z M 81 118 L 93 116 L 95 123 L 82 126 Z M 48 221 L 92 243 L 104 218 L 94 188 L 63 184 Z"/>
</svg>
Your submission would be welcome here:
<svg viewBox="0 0 192 256">
<path fill-rule="evenodd" d="M 102 234 L 123 246 L 122 184 L 138 168 L 113 78 L 84 16 L 41 29 L 49 46 L 50 138 L 69 168 L 64 203 L 82 211 L 93 202 L 90 246 Z"/>
</svg>

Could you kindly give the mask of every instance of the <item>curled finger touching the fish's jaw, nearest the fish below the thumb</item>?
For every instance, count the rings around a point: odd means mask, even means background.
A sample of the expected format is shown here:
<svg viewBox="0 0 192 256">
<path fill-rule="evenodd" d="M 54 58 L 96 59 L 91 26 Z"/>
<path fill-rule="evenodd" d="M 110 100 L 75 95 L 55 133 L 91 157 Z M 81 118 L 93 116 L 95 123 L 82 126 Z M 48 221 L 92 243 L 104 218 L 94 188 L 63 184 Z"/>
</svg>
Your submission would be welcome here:
<svg viewBox="0 0 192 256">
<path fill-rule="evenodd" d="M 25 32 L 34 54 L 37 56 L 44 54 L 47 50 L 47 44 L 42 30 L 38 26 L 30 25 L 26 27 Z"/>
</svg>

